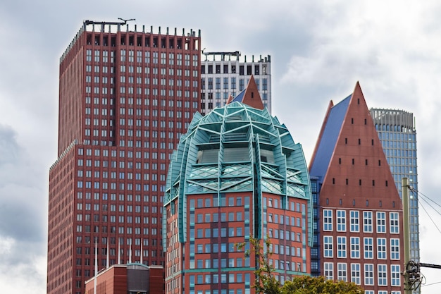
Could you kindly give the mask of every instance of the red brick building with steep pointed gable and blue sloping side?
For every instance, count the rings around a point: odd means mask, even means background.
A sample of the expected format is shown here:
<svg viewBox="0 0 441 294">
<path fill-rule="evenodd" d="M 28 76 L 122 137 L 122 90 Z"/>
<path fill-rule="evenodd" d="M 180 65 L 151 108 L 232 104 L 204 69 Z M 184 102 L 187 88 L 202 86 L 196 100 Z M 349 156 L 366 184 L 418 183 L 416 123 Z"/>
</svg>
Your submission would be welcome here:
<svg viewBox="0 0 441 294">
<path fill-rule="evenodd" d="M 331 101 L 310 165 L 311 272 L 352 281 L 366 294 L 402 293 L 402 202 L 357 82 Z"/>
</svg>

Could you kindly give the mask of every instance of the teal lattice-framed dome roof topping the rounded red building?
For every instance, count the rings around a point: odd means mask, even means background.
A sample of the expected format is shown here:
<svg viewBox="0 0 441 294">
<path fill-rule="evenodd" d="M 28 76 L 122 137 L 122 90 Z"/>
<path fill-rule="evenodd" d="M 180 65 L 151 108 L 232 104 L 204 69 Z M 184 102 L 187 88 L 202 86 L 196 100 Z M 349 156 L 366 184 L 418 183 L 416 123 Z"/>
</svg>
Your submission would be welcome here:
<svg viewBox="0 0 441 294">
<path fill-rule="evenodd" d="M 256 205 L 261 205 L 263 192 L 280 195 L 285 209 L 288 197 L 306 200 L 312 237 L 311 188 L 302 146 L 266 109 L 232 102 L 206 116 L 197 113 L 172 154 L 164 206 L 178 201 L 180 226 L 186 222 L 187 195 L 221 197 L 228 192 L 249 192 Z"/>
</svg>

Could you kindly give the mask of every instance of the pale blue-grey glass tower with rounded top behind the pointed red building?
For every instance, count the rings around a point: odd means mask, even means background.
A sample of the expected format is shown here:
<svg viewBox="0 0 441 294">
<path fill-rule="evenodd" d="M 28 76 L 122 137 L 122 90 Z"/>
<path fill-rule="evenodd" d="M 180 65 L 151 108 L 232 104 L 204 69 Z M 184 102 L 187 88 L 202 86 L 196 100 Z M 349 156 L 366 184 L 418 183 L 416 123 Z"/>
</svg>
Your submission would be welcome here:
<svg viewBox="0 0 441 294">
<path fill-rule="evenodd" d="M 371 116 L 400 197 L 402 178 L 409 178 L 411 187 L 418 191 L 414 114 L 397 109 L 371 109 Z M 418 195 L 414 190 L 409 190 L 410 253 L 411 260 L 420 262 Z M 414 291 L 419 292 L 421 288 Z"/>
</svg>

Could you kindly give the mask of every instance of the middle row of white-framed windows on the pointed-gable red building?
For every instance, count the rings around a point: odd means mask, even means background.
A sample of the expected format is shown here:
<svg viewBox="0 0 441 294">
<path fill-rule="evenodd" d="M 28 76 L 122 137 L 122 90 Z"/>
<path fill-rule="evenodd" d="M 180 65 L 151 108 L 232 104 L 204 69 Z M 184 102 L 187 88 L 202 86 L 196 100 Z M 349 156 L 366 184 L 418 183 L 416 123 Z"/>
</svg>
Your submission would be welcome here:
<svg viewBox="0 0 441 294">
<path fill-rule="evenodd" d="M 337 258 L 347 258 L 347 237 L 337 236 Z M 363 257 L 364 259 L 374 258 L 374 238 L 363 238 Z M 390 238 L 390 259 L 399 260 L 399 239 Z M 349 238 L 350 254 L 351 258 L 359 259 L 361 257 L 361 244 L 359 237 Z M 376 258 L 387 259 L 387 238 L 376 238 Z M 332 258 L 334 257 L 334 239 L 333 236 L 323 236 L 323 256 Z"/>
</svg>

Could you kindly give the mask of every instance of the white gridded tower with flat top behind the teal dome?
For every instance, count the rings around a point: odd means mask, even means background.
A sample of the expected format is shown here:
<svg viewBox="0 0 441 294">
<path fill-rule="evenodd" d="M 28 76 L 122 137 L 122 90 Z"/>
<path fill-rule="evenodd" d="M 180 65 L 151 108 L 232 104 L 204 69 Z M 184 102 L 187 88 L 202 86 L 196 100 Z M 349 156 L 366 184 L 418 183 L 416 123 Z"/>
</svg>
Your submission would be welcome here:
<svg viewBox="0 0 441 294">
<path fill-rule="evenodd" d="M 202 52 L 201 114 L 227 104 L 228 97 L 236 97 L 254 76 L 263 105 L 271 114 L 271 56 L 251 60 L 241 58 L 240 52 Z M 249 56 L 248 56 L 249 57 Z"/>
</svg>

